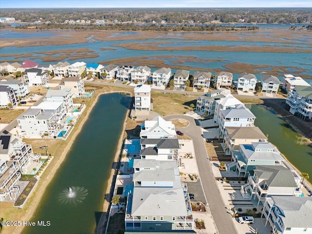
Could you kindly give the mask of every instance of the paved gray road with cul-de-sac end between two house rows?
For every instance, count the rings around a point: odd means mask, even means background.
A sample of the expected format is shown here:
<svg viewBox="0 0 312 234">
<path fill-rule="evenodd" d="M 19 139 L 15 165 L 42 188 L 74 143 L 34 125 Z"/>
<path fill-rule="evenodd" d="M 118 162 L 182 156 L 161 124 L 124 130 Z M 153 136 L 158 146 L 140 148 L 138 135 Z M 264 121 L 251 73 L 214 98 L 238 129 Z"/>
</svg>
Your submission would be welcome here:
<svg viewBox="0 0 312 234">
<path fill-rule="evenodd" d="M 165 120 L 172 118 L 183 118 L 190 122 L 188 127 L 177 128 L 177 130 L 193 139 L 199 176 L 219 234 L 237 234 L 232 217 L 226 212 L 227 210 L 215 183 L 215 177 L 210 167 L 210 161 L 204 139 L 201 136 L 200 127 L 196 126 L 195 119 L 189 116 L 171 115 L 164 117 Z"/>
</svg>

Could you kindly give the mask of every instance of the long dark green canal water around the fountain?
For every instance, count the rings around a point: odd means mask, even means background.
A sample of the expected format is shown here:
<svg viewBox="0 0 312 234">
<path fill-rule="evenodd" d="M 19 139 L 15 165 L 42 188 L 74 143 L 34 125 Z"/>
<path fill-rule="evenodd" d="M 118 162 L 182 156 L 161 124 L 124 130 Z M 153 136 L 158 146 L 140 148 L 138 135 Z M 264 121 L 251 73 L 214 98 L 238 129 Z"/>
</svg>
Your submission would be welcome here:
<svg viewBox="0 0 312 234">
<path fill-rule="evenodd" d="M 102 209 L 107 179 L 117 150 L 123 120 L 131 98 L 122 94 L 101 95 L 75 139 L 66 160 L 43 195 L 31 221 L 50 221 L 49 227 L 29 227 L 25 234 L 91 234 Z M 88 190 L 85 199 L 74 204 L 59 201 L 69 186 Z"/>
</svg>

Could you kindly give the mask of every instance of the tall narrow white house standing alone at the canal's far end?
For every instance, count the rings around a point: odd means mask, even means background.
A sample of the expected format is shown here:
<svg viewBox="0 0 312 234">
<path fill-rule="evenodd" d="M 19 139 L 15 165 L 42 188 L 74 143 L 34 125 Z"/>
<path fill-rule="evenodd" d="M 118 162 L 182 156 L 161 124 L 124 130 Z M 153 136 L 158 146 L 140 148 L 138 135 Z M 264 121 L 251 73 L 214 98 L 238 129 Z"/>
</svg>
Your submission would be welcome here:
<svg viewBox="0 0 312 234">
<path fill-rule="evenodd" d="M 138 84 L 135 87 L 135 110 L 151 110 L 151 86 Z"/>
</svg>

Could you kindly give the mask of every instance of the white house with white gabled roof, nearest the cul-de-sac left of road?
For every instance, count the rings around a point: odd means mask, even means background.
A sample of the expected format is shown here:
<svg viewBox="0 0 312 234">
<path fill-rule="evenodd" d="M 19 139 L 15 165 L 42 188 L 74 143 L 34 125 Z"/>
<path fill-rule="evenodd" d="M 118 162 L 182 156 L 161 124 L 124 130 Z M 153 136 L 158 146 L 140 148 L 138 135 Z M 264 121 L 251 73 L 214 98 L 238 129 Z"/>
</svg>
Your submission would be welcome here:
<svg viewBox="0 0 312 234">
<path fill-rule="evenodd" d="M 146 120 L 141 125 L 141 138 L 176 138 L 176 127 L 172 121 L 166 121 L 160 116 Z"/>
</svg>

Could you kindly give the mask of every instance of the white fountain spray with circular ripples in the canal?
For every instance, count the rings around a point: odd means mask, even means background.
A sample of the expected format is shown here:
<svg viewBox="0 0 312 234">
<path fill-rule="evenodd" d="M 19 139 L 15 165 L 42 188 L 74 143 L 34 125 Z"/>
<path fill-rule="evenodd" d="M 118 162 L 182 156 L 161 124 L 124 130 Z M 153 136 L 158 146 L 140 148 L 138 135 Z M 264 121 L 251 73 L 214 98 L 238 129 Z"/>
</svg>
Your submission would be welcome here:
<svg viewBox="0 0 312 234">
<path fill-rule="evenodd" d="M 86 190 L 83 187 L 69 187 L 68 189 L 64 189 L 59 194 L 59 201 L 61 203 L 69 203 L 69 204 L 75 204 L 81 203 L 84 198 L 88 195 L 88 190 Z"/>
</svg>

